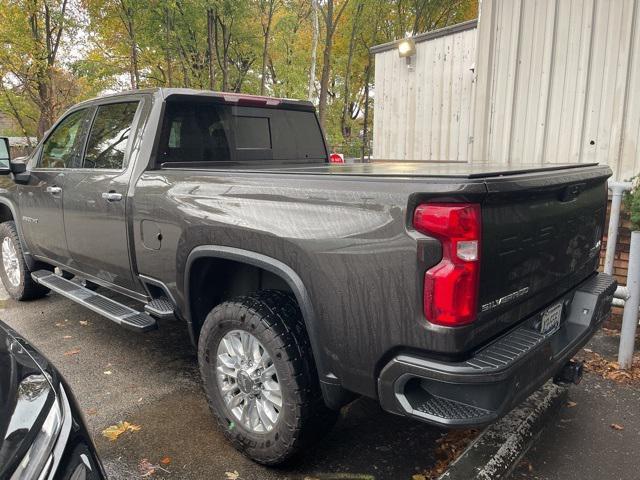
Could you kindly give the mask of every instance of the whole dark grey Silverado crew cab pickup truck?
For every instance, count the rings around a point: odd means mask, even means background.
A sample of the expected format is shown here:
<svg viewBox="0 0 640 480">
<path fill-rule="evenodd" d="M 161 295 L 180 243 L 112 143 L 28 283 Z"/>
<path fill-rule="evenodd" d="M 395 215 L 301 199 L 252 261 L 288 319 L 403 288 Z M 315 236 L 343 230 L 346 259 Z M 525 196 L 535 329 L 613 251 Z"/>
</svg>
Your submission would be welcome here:
<svg viewBox="0 0 640 480">
<path fill-rule="evenodd" d="M 331 164 L 310 103 L 184 89 L 76 105 L 0 166 L 9 294 L 186 322 L 211 410 L 264 464 L 354 395 L 490 423 L 579 376 L 610 312 L 606 166 Z"/>
</svg>

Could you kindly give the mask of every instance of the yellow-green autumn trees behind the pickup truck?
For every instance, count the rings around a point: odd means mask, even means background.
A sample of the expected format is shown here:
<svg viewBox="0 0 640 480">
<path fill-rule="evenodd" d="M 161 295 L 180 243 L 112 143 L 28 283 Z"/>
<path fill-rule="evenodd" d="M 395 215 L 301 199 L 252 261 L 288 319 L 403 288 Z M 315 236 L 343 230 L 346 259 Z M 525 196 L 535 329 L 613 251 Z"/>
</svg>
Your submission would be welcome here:
<svg viewBox="0 0 640 480">
<path fill-rule="evenodd" d="M 318 4 L 314 99 L 323 69 L 327 0 Z M 310 0 L 0 0 L 0 5 L 0 110 L 19 116 L 30 135 L 42 133 L 71 104 L 104 92 L 173 86 L 258 94 L 263 58 L 267 95 L 308 97 Z M 345 10 L 333 37 L 326 133 L 330 145 L 352 154 L 362 148 L 367 72 L 373 87 L 369 49 L 474 18 L 477 0 L 334 0 L 334 6 Z M 273 16 L 265 42 L 269 7 Z M 62 29 L 52 64 L 46 42 L 30 28 L 30 19 L 45 25 L 46 11 L 52 12 L 53 27 Z M 38 94 L 43 82 L 52 99 Z M 369 96 L 369 137 L 371 105 Z"/>
</svg>

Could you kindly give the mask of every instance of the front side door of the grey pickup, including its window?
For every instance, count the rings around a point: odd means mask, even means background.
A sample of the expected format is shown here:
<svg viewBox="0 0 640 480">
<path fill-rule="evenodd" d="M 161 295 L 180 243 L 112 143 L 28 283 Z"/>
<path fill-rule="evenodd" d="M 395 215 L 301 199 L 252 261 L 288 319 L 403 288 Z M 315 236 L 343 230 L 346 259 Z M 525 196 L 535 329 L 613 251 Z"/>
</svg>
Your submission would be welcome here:
<svg viewBox="0 0 640 480">
<path fill-rule="evenodd" d="M 78 159 L 87 109 L 69 113 L 36 153 L 27 184 L 18 185 L 24 241 L 35 256 L 68 265 L 62 202 L 66 174 Z"/>
</svg>

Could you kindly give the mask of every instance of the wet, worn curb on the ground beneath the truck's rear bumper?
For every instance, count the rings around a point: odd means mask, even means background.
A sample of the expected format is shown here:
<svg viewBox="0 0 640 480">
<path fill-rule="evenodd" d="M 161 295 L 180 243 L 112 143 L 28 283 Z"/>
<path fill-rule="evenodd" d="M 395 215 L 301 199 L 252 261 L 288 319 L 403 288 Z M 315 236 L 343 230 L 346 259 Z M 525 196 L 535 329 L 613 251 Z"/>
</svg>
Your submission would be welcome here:
<svg viewBox="0 0 640 480">
<path fill-rule="evenodd" d="M 567 387 L 547 382 L 520 406 L 483 430 L 439 480 L 508 478 L 550 417 L 566 403 L 567 392 Z"/>
</svg>

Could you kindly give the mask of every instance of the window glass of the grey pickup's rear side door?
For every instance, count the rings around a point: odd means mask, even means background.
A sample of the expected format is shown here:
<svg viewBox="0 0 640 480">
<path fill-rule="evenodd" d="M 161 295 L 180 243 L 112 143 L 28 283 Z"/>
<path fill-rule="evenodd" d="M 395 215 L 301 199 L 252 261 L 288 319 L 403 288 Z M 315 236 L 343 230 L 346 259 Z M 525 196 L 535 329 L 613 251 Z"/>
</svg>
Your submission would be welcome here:
<svg viewBox="0 0 640 480">
<path fill-rule="evenodd" d="M 98 107 L 84 155 L 83 168 L 119 170 L 131 132 L 138 102 L 112 103 Z"/>
</svg>

